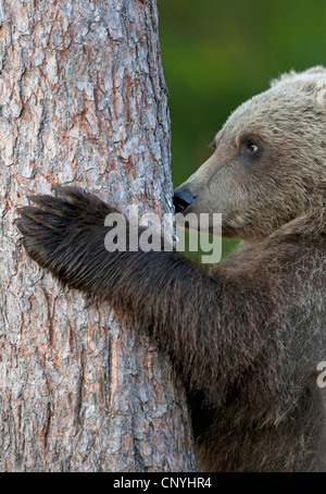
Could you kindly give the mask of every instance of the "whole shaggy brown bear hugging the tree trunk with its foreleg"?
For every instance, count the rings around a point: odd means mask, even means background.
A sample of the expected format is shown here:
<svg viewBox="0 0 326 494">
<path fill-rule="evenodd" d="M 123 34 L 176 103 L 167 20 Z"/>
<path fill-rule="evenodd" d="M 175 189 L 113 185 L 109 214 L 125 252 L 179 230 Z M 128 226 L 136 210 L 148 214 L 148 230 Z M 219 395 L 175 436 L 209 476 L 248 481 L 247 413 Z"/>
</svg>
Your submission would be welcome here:
<svg viewBox="0 0 326 494">
<path fill-rule="evenodd" d="M 18 227 L 63 284 L 148 328 L 188 392 L 202 470 L 325 470 L 326 111 L 323 69 L 241 106 L 183 185 L 246 242 L 211 272 L 178 252 L 108 252 L 112 208 L 75 188 L 38 196 Z"/>
</svg>

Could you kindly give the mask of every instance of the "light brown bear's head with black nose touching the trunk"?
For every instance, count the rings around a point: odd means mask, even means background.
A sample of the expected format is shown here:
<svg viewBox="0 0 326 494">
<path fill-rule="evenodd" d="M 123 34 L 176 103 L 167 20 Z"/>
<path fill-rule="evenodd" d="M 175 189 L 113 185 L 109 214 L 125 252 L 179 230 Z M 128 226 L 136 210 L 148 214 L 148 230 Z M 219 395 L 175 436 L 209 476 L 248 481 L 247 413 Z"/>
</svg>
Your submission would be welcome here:
<svg viewBox="0 0 326 494">
<path fill-rule="evenodd" d="M 223 235 L 259 240 L 326 198 L 326 69 L 290 72 L 241 104 L 214 153 L 175 190 L 176 211 L 222 213 Z"/>
</svg>

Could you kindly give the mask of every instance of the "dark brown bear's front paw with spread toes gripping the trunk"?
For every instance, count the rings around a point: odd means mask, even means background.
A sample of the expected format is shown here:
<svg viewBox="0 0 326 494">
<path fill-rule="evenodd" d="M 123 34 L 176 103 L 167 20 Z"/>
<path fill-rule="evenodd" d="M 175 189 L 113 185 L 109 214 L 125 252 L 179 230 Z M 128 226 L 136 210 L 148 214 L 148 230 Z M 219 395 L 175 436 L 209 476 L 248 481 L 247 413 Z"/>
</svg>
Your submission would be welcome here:
<svg viewBox="0 0 326 494">
<path fill-rule="evenodd" d="M 75 187 L 55 192 L 60 197 L 29 197 L 37 206 L 21 208 L 16 225 L 28 256 L 70 284 L 77 261 L 104 237 L 104 220 L 114 209 Z"/>
</svg>

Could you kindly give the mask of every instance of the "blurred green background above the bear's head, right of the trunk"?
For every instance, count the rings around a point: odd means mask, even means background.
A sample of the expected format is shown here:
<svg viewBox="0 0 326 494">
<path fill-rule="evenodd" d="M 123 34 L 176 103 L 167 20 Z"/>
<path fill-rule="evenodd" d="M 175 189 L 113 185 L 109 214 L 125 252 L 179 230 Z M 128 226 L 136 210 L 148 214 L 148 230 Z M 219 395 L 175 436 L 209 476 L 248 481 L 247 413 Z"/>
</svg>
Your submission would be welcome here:
<svg viewBox="0 0 326 494">
<path fill-rule="evenodd" d="M 174 185 L 208 159 L 229 113 L 271 78 L 325 64 L 324 0 L 159 0 Z"/>
</svg>

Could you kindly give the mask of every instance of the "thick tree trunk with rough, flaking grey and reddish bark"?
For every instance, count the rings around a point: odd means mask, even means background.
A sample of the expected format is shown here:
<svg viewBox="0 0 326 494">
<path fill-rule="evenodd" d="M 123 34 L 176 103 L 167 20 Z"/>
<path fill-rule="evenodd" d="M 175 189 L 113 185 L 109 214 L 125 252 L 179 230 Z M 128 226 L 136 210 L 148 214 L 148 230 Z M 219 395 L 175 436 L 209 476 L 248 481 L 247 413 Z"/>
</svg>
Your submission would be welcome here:
<svg viewBox="0 0 326 494">
<path fill-rule="evenodd" d="M 191 471 L 185 393 L 118 314 L 32 263 L 28 194 L 172 209 L 153 0 L 0 0 L 0 470 Z"/>
</svg>

